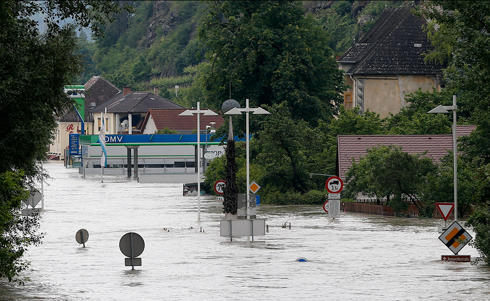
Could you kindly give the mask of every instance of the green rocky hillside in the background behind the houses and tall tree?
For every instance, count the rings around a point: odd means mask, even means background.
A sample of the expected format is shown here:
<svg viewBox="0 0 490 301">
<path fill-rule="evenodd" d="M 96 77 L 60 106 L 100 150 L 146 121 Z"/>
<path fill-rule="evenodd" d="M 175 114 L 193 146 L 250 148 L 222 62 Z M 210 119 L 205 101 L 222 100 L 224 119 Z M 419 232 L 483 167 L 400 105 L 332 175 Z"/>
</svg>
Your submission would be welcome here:
<svg viewBox="0 0 490 301">
<path fill-rule="evenodd" d="M 78 84 L 102 75 L 116 86 L 135 90 L 160 87 L 161 96 L 188 105 L 195 91 L 197 65 L 206 61 L 196 38 L 203 12 L 209 3 L 224 1 L 116 1 L 131 4 L 134 13 L 115 15 L 102 27 L 104 37 L 89 41 L 80 37 L 87 68 Z M 254 1 L 245 1 L 254 2 Z M 333 55 L 345 52 L 374 24 L 386 7 L 411 5 L 412 1 L 298 1 L 325 30 L 325 44 Z M 416 1 L 418 2 L 418 1 Z M 175 85 L 179 85 L 175 97 Z M 189 91 L 190 90 L 190 91 Z"/>
</svg>

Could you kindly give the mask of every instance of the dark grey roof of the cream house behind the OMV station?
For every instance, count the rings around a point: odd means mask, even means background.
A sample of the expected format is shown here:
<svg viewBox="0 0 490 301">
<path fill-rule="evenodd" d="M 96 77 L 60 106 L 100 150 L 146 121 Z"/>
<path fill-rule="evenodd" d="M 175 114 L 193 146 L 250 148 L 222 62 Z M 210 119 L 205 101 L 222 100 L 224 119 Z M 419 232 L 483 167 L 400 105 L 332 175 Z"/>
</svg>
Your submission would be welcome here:
<svg viewBox="0 0 490 301">
<path fill-rule="evenodd" d="M 169 101 L 151 92 L 131 92 L 123 97 L 119 92 L 114 97 L 92 109 L 92 113 L 105 111 L 108 113 L 147 113 L 149 109 L 185 109 L 185 107 Z"/>
</svg>

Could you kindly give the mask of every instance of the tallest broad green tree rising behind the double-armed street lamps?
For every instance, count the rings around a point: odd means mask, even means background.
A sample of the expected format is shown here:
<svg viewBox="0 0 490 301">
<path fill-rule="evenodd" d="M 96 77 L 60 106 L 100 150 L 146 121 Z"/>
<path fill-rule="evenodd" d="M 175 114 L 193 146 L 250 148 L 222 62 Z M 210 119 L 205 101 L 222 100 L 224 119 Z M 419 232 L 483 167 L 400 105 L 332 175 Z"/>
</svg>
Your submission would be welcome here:
<svg viewBox="0 0 490 301">
<path fill-rule="evenodd" d="M 200 79 L 206 105 L 220 109 L 229 94 L 242 106 L 247 98 L 251 107 L 287 102 L 295 120 L 313 126 L 336 113 L 343 73 L 325 46 L 327 33 L 301 2 L 207 4 L 198 32 L 210 65 Z"/>
</svg>

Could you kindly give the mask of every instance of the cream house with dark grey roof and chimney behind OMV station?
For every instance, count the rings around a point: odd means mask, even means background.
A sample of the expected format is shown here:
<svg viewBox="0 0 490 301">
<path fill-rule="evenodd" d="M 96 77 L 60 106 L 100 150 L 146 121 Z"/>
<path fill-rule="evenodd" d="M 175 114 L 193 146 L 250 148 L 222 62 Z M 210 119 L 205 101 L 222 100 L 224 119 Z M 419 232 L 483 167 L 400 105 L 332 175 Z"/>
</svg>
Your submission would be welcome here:
<svg viewBox="0 0 490 301">
<path fill-rule="evenodd" d="M 186 108 L 157 94 L 131 91 L 131 87 L 124 87 L 123 91 L 91 110 L 96 120 L 93 131 L 99 133 L 100 118 L 106 112 L 107 134 L 141 134 L 141 126 L 150 109 Z"/>
</svg>

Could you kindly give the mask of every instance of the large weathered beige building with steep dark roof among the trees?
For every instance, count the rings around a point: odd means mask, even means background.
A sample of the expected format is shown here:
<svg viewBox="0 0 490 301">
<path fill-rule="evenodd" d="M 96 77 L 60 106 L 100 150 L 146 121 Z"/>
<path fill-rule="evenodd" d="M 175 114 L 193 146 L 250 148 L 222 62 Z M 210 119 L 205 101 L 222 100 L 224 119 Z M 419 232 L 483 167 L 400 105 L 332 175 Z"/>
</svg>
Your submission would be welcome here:
<svg viewBox="0 0 490 301">
<path fill-rule="evenodd" d="M 382 117 L 396 114 L 406 105 L 405 95 L 419 88 L 440 90 L 440 65 L 425 61 L 433 50 L 423 17 L 409 7 L 386 9 L 365 35 L 337 59 L 352 88 L 344 91 L 347 109 L 360 107 Z"/>
</svg>

